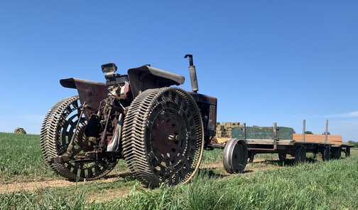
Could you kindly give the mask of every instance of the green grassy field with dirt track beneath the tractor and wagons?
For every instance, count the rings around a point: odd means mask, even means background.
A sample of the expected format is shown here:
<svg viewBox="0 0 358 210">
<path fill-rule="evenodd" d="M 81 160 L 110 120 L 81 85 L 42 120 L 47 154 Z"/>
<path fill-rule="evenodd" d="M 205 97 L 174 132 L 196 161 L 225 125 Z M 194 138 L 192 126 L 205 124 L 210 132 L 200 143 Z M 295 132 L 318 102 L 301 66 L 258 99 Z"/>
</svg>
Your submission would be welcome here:
<svg viewBox="0 0 358 210">
<path fill-rule="evenodd" d="M 0 133 L 0 209 L 358 209 L 358 150 L 294 165 L 258 154 L 243 174 L 227 174 L 222 149 L 205 151 L 183 186 L 146 189 L 123 160 L 104 179 L 69 182 L 40 152 L 39 135 Z"/>
</svg>

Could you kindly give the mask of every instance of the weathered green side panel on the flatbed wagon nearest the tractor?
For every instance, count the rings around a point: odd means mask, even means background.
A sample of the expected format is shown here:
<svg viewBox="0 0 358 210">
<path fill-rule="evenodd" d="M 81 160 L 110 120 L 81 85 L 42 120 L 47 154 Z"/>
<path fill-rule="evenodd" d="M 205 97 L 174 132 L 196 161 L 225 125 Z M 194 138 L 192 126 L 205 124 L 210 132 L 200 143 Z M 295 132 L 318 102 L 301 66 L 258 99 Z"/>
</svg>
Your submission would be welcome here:
<svg viewBox="0 0 358 210">
<path fill-rule="evenodd" d="M 232 128 L 232 138 L 243 139 L 244 127 Z M 246 127 L 246 139 L 254 140 L 273 140 L 274 138 L 273 127 Z M 278 140 L 293 140 L 292 127 L 277 127 Z"/>
</svg>

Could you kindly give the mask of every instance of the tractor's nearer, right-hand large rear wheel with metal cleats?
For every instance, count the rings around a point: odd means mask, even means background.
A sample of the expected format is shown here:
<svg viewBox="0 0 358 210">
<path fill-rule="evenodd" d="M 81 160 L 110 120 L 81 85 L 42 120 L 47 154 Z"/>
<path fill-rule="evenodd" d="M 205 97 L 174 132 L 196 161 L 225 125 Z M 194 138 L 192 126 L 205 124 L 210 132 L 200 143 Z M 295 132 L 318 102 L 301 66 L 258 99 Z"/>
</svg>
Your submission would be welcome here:
<svg viewBox="0 0 358 210">
<path fill-rule="evenodd" d="M 188 182 L 202 159 L 200 110 L 180 88 L 149 89 L 137 96 L 124 118 L 122 134 L 126 163 L 148 186 Z"/>
</svg>

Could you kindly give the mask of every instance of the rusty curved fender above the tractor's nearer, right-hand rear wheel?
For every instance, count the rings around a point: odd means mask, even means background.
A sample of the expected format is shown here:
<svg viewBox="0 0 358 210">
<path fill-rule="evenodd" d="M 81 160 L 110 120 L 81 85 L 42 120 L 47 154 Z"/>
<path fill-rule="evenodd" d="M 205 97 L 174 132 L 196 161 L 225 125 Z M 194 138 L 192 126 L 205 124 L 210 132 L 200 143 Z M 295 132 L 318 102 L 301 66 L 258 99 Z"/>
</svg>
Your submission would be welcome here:
<svg viewBox="0 0 358 210">
<path fill-rule="evenodd" d="M 153 88 L 164 88 L 171 85 L 182 85 L 185 78 L 175 73 L 143 65 L 139 68 L 128 70 L 129 82 L 133 98 L 136 98 L 141 91 Z"/>
</svg>

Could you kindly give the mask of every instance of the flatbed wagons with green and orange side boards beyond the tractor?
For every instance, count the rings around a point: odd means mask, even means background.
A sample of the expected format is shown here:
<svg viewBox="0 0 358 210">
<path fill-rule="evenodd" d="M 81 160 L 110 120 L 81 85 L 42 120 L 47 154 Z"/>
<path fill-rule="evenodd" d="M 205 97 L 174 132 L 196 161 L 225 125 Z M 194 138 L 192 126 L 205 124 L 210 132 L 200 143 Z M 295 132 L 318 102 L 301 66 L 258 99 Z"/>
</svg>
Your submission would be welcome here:
<svg viewBox="0 0 358 210">
<path fill-rule="evenodd" d="M 249 150 L 249 162 L 252 162 L 255 154 L 278 153 L 280 160 L 286 159 L 286 154 L 295 157 L 295 162 L 304 162 L 306 153 L 322 154 L 324 161 L 331 157 L 339 159 L 341 152 L 346 157 L 350 155 L 353 145 L 342 143 L 342 136 L 328 135 L 328 121 L 326 122 L 325 135 L 305 134 L 305 120 L 303 120 L 303 133 L 297 135 L 291 127 L 242 127 L 232 130 L 232 138 L 239 138 L 246 142 Z"/>
</svg>

